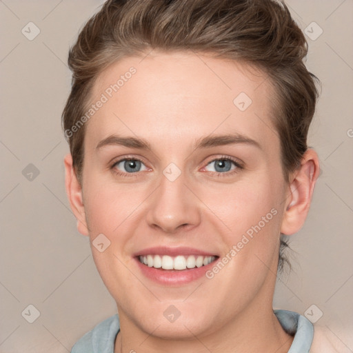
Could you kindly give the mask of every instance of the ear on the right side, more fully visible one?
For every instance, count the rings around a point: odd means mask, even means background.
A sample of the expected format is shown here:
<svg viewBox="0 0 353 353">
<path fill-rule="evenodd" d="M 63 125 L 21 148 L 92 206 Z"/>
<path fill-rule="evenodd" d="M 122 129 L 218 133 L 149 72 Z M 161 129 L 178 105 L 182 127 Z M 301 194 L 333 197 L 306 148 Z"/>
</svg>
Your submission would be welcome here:
<svg viewBox="0 0 353 353">
<path fill-rule="evenodd" d="M 291 235 L 303 227 L 319 171 L 319 157 L 314 150 L 308 149 L 301 159 L 300 168 L 290 177 L 281 233 Z"/>
</svg>

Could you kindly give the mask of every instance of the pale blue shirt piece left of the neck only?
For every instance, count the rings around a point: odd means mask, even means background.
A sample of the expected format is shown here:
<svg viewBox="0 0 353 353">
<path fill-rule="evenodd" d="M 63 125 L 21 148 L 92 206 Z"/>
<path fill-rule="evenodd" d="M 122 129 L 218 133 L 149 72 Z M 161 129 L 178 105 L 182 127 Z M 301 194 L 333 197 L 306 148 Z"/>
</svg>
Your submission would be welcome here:
<svg viewBox="0 0 353 353">
<path fill-rule="evenodd" d="M 90 332 L 84 334 L 72 347 L 71 353 L 111 353 L 119 332 L 119 316 L 115 314 L 101 321 Z"/>
</svg>

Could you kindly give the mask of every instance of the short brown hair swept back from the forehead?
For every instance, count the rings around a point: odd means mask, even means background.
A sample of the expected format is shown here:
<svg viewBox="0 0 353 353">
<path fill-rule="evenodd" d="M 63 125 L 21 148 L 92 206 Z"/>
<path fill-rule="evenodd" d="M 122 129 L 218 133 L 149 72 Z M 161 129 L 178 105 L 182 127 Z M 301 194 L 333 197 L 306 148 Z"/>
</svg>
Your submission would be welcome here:
<svg viewBox="0 0 353 353">
<path fill-rule="evenodd" d="M 95 79 L 123 57 L 150 50 L 192 50 L 245 61 L 274 87 L 273 123 L 281 141 L 283 174 L 300 166 L 319 96 L 303 59 L 307 41 L 283 0 L 109 0 L 85 24 L 69 52 L 72 90 L 62 114 L 71 131 L 85 114 Z M 68 138 L 68 134 L 65 133 Z M 85 124 L 68 139 L 79 181 Z M 281 241 L 281 251 L 285 244 Z M 280 254 L 279 268 L 285 261 Z"/>
</svg>

